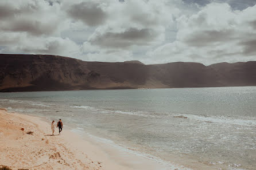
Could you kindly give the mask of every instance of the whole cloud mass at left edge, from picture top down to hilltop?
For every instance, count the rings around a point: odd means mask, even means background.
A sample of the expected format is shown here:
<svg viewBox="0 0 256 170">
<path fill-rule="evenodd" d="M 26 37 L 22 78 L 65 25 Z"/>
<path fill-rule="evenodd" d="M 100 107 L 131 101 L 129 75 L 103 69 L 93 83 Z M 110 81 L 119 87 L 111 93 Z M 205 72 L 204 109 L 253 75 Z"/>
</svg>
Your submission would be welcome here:
<svg viewBox="0 0 256 170">
<path fill-rule="evenodd" d="M 73 56 L 80 47 L 69 38 L 61 38 L 67 29 L 59 3 L 18 0 L 1 1 L 1 53 L 55 54 Z"/>
</svg>

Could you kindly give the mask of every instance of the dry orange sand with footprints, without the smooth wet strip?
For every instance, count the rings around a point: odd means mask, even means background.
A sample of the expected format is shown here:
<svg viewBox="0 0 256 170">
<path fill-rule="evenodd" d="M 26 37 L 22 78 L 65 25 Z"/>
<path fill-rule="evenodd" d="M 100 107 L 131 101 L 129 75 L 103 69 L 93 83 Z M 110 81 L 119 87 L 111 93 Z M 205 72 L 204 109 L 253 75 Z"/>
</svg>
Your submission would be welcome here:
<svg viewBox="0 0 256 170">
<path fill-rule="evenodd" d="M 126 169 L 72 132 L 64 130 L 58 135 L 56 128 L 52 136 L 50 124 L 38 117 L 1 109 L 0 120 L 0 165 L 11 169 Z"/>
</svg>

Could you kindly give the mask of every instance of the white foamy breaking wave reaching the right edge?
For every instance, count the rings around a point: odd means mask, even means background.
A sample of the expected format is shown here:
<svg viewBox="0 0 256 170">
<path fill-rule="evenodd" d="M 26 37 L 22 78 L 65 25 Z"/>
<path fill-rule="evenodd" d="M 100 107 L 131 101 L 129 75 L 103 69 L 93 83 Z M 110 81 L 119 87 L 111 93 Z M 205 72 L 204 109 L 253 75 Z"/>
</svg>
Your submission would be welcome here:
<svg viewBox="0 0 256 170">
<path fill-rule="evenodd" d="M 256 120 L 242 119 L 242 118 L 231 118 L 227 116 L 198 116 L 195 114 L 184 114 L 184 116 L 205 122 L 213 122 L 219 124 L 236 124 L 243 126 L 256 126 Z"/>
</svg>

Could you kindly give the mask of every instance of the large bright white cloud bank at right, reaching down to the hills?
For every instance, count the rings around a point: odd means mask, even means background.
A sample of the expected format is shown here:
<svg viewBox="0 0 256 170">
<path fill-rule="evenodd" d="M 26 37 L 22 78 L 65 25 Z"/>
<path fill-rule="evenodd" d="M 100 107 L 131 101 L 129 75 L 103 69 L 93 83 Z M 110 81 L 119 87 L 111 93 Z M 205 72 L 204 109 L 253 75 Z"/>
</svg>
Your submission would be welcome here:
<svg viewBox="0 0 256 170">
<path fill-rule="evenodd" d="M 197 14 L 177 19 L 176 41 L 148 56 L 204 64 L 255 60 L 255 21 L 256 5 L 239 11 L 227 3 L 210 3 Z"/>
</svg>

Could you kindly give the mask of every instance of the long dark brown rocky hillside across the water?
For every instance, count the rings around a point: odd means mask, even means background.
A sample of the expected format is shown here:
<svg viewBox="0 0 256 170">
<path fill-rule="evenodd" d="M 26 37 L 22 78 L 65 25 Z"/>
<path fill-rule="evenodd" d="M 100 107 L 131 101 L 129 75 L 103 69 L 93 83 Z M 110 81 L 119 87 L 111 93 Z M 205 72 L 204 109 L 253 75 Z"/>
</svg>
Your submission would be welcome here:
<svg viewBox="0 0 256 170">
<path fill-rule="evenodd" d="M 210 66 L 193 62 L 86 62 L 50 55 L 0 54 L 0 92 L 255 86 L 256 61 Z"/>
</svg>

